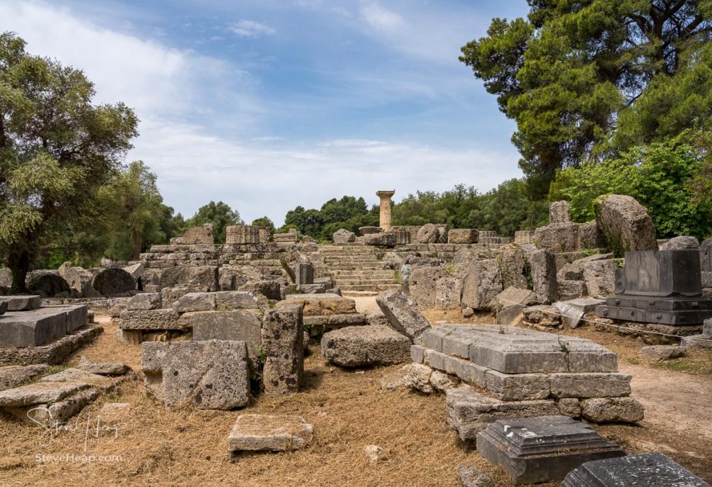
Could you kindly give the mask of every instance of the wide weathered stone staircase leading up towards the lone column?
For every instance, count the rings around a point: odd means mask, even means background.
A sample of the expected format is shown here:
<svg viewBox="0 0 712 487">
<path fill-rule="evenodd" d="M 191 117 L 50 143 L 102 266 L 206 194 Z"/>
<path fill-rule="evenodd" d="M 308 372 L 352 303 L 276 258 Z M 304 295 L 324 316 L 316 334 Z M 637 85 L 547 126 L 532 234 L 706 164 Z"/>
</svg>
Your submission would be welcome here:
<svg viewBox="0 0 712 487">
<path fill-rule="evenodd" d="M 336 287 L 350 294 L 398 289 L 393 269 L 384 267 L 375 247 L 367 245 L 320 245 L 319 253 L 333 275 Z"/>
</svg>

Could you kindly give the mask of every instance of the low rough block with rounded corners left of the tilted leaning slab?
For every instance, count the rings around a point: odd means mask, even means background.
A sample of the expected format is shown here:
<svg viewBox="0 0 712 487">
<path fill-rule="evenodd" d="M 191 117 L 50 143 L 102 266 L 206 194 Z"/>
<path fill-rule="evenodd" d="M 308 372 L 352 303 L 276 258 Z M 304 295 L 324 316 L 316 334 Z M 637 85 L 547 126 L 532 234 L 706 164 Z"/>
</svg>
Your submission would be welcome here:
<svg viewBox="0 0 712 487">
<path fill-rule="evenodd" d="M 340 367 L 393 365 L 410 359 L 411 342 L 386 326 L 347 326 L 325 333 L 321 353 Z"/>
</svg>

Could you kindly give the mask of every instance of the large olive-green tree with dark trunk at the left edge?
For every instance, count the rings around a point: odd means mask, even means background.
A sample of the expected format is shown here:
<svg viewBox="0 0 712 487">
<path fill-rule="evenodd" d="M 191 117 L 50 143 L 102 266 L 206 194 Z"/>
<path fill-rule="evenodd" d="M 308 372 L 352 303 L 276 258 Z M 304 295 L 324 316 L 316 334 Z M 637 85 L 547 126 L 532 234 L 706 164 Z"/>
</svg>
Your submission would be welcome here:
<svg viewBox="0 0 712 487">
<path fill-rule="evenodd" d="M 137 136 L 131 109 L 93 105 L 93 84 L 74 68 L 29 55 L 0 34 L 0 255 L 25 291 L 47 237 L 96 214 L 98 188 Z"/>
</svg>

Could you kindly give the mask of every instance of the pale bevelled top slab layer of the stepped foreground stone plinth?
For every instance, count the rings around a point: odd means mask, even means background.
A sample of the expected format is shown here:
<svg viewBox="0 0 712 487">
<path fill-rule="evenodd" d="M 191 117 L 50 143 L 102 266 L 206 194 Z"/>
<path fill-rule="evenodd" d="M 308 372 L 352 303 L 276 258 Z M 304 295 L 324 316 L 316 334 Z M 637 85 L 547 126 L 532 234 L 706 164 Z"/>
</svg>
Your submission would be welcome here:
<svg viewBox="0 0 712 487">
<path fill-rule="evenodd" d="M 583 338 L 554 333 L 478 326 L 471 336 L 470 360 L 506 374 L 555 372 L 616 372 L 617 355 Z"/>
</svg>

